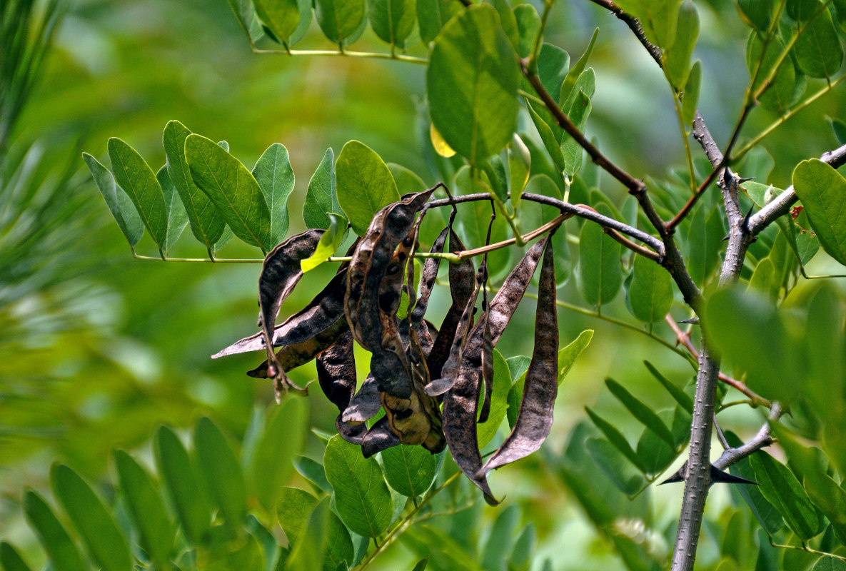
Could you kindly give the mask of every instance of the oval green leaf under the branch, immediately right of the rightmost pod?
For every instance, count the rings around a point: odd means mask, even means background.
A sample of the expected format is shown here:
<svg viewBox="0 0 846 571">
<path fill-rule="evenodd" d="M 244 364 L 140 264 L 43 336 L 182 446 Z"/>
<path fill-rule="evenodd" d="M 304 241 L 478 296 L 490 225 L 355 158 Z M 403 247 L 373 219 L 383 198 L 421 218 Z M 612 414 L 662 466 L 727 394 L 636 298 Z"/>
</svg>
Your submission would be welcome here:
<svg viewBox="0 0 846 571">
<path fill-rule="evenodd" d="M 601 214 L 610 213 L 607 206 L 597 206 Z M 620 244 L 604 233 L 599 224 L 585 222 L 582 226 L 577 277 L 582 297 L 589 304 L 607 304 L 623 285 L 620 249 Z"/>
</svg>

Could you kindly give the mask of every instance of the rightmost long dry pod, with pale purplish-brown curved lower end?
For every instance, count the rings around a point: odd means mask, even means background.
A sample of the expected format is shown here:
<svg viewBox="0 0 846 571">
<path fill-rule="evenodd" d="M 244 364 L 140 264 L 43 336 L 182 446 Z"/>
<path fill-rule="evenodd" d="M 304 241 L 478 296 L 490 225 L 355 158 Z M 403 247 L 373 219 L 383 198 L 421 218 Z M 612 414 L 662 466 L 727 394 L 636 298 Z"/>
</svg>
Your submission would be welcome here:
<svg viewBox="0 0 846 571">
<path fill-rule="evenodd" d="M 543 255 L 535 314 L 535 349 L 526 371 L 523 400 L 514 430 L 476 473 L 489 471 L 535 452 L 549 436 L 558 394 L 558 316 L 555 306 L 555 258 L 552 241 Z"/>
</svg>

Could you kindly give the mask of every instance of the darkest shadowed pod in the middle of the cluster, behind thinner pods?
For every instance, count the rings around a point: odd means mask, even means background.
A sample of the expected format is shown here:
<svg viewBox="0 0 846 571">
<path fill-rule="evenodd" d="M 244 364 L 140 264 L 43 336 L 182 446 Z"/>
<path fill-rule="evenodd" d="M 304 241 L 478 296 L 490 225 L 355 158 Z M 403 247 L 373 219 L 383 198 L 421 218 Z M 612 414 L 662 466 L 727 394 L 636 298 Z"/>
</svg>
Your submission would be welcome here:
<svg viewBox="0 0 846 571">
<path fill-rule="evenodd" d="M 449 235 L 449 250 L 452 252 L 464 250 L 464 244 L 461 243 L 461 239 L 452 231 L 452 228 L 450 228 Z M 435 343 L 426 359 L 433 379 L 443 376 L 442 367 L 447 362 L 451 349 L 453 349 L 453 339 L 459 323 L 462 321 L 462 316 L 464 316 L 464 310 L 470 303 L 471 296 L 473 296 L 473 305 L 475 305 L 475 294 L 478 294 L 475 268 L 470 258 L 459 264 L 450 264 L 448 274 L 449 294 L 452 296 L 453 303 L 450 305 L 447 315 L 443 318 Z M 473 314 L 470 313 L 470 319 L 472 320 L 472 318 Z"/>
</svg>

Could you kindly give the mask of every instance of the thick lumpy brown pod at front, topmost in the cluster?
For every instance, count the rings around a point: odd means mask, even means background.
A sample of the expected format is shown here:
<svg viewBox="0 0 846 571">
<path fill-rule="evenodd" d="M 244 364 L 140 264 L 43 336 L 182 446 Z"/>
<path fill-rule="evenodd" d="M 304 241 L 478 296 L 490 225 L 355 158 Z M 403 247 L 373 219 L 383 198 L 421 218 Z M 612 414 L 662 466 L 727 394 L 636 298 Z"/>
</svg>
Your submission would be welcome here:
<svg viewBox="0 0 846 571">
<path fill-rule="evenodd" d="M 354 338 L 373 354 L 371 371 L 380 390 L 399 398 L 409 398 L 411 378 L 408 364 L 404 362 L 402 342 L 391 321 L 394 317 L 385 319 L 383 314 L 386 311 L 383 309 L 390 310 L 398 305 L 398 299 L 393 299 L 393 295 L 400 297 L 401 292 L 386 291 L 382 288 L 382 281 L 389 269 L 401 272 L 404 268 L 404 263 L 392 263 L 398 262 L 394 260 L 394 250 L 409 235 L 415 214 L 426 204 L 431 193 L 432 190 L 426 190 L 410 195 L 376 212 L 353 253 L 347 275 L 344 312 Z M 394 282 L 391 280 L 389 283 L 393 285 Z M 402 276 L 399 279 L 401 287 Z"/>
</svg>

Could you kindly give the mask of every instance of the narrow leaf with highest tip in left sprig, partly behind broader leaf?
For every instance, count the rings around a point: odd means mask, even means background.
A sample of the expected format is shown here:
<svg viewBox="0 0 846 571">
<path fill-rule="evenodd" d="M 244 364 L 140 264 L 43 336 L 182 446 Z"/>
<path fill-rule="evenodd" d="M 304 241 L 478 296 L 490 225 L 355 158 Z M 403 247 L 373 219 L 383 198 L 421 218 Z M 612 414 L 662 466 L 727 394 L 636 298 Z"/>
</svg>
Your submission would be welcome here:
<svg viewBox="0 0 846 571">
<path fill-rule="evenodd" d="M 190 167 L 185 160 L 185 139 L 190 134 L 190 130 L 179 121 L 170 121 L 164 128 L 162 144 L 165 156 L 168 157 L 168 174 L 179 193 L 179 198 L 182 199 L 191 233 L 211 250 L 221 239 L 226 224 L 206 193 L 198 189 L 191 178 Z"/>
</svg>

